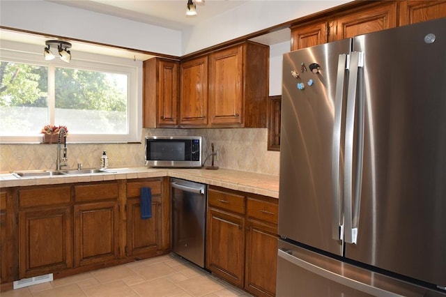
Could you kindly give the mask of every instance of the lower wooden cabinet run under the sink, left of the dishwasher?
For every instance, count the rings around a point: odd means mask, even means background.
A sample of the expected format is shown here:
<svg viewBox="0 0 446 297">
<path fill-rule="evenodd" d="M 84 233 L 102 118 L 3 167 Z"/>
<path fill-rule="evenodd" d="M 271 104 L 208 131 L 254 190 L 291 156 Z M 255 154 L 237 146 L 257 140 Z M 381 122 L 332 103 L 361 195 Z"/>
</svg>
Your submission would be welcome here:
<svg viewBox="0 0 446 297">
<path fill-rule="evenodd" d="M 135 178 L 1 190 L 1 289 L 23 278 L 68 276 L 169 253 L 167 182 Z M 152 189 L 147 220 L 140 215 L 141 187 Z"/>
</svg>

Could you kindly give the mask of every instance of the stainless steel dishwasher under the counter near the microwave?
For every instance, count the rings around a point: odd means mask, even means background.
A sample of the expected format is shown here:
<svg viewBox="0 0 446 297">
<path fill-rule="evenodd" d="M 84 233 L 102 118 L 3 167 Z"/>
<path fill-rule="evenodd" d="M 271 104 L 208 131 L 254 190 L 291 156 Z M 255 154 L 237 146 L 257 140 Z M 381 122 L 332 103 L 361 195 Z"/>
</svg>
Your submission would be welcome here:
<svg viewBox="0 0 446 297">
<path fill-rule="evenodd" d="M 171 250 L 204 268 L 206 185 L 171 178 Z"/>
</svg>

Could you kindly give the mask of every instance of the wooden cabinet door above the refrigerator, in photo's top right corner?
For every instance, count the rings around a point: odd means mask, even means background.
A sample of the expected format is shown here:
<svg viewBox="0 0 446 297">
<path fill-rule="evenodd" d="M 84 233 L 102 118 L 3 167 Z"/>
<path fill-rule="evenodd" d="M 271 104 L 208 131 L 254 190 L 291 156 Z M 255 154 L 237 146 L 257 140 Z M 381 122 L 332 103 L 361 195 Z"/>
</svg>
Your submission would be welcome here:
<svg viewBox="0 0 446 297">
<path fill-rule="evenodd" d="M 399 8 L 399 25 L 405 26 L 418 22 L 446 17 L 446 1 L 401 1 Z"/>
</svg>

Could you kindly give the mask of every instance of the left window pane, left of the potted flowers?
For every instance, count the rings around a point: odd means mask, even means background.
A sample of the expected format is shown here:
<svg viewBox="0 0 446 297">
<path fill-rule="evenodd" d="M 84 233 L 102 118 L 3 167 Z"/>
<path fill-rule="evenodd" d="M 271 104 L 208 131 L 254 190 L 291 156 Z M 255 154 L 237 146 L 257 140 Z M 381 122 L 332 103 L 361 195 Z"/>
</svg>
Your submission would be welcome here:
<svg viewBox="0 0 446 297">
<path fill-rule="evenodd" d="M 48 68 L 0 61 L 0 135 L 36 135 L 48 123 Z"/>
</svg>

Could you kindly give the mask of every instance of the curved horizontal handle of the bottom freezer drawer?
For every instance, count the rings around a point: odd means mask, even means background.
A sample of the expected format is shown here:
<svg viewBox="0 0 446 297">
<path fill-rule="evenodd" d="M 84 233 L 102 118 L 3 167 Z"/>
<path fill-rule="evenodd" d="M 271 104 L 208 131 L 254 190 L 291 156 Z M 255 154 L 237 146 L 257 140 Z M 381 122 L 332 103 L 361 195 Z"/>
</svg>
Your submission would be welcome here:
<svg viewBox="0 0 446 297">
<path fill-rule="evenodd" d="M 298 257 L 294 257 L 293 250 L 284 251 L 279 249 L 277 252 L 277 256 L 284 259 L 285 261 L 289 261 L 291 264 L 294 264 L 295 266 L 299 266 L 300 268 L 305 269 L 306 271 L 310 271 L 311 273 L 324 277 L 325 279 L 331 280 L 332 282 L 337 282 L 338 284 L 342 284 L 346 287 L 350 287 L 357 291 L 362 291 L 371 296 L 383 296 L 383 297 L 403 296 L 396 294 L 394 292 L 380 289 L 378 287 L 372 287 L 369 284 L 364 284 L 363 282 L 359 282 L 358 280 L 353 280 L 351 278 L 345 277 L 344 275 L 339 275 L 338 273 L 334 273 L 333 271 L 329 271 L 328 269 L 316 266 L 303 259 L 299 259 Z"/>
</svg>

